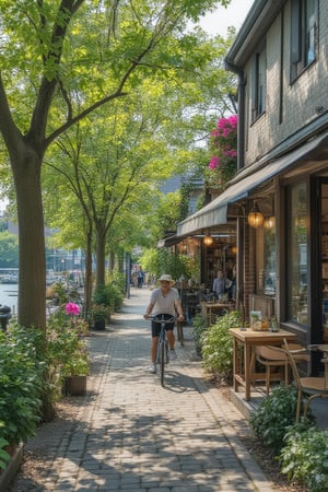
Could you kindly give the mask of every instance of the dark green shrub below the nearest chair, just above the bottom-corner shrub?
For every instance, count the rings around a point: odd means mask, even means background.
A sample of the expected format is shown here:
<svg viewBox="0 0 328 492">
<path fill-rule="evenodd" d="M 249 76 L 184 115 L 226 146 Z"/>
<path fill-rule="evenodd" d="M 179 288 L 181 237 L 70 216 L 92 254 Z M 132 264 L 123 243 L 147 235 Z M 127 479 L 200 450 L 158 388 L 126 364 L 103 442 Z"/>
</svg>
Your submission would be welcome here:
<svg viewBox="0 0 328 492">
<path fill-rule="evenodd" d="M 274 455 L 280 453 L 284 435 L 295 422 L 296 403 L 297 389 L 281 384 L 272 389 L 250 417 L 249 422 L 255 434 Z M 312 425 L 313 420 L 308 410 L 307 426 Z"/>
</svg>

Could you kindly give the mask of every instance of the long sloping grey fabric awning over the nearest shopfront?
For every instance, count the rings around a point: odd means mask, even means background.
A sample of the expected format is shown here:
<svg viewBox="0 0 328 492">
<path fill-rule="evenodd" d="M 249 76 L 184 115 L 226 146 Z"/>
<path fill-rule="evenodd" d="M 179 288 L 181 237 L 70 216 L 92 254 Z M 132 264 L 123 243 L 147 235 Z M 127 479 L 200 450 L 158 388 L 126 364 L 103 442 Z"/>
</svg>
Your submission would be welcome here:
<svg viewBox="0 0 328 492">
<path fill-rule="evenodd" d="M 259 164 L 251 166 L 251 168 L 250 166 L 245 167 L 223 194 L 177 225 L 177 237 L 226 224 L 229 222 L 229 207 L 231 204 L 247 198 L 249 192 L 256 187 L 265 184 L 282 172 L 290 171 L 294 164 L 309 160 L 312 156 L 311 153 L 319 145 L 326 145 L 326 151 L 328 151 L 328 132 L 313 138 L 304 145 L 288 154 L 283 154 L 261 168 L 258 168 Z"/>
</svg>

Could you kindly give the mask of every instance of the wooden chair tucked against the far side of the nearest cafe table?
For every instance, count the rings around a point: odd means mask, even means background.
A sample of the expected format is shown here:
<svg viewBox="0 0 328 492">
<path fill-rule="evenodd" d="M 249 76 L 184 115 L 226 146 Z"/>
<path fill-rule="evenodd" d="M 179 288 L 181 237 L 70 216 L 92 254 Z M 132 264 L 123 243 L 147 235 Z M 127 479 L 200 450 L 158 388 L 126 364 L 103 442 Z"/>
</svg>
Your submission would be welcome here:
<svg viewBox="0 0 328 492">
<path fill-rule="evenodd" d="M 297 362 L 309 361 L 309 355 L 305 353 L 305 349 L 298 343 L 290 343 L 289 349 L 295 353 Z M 270 347 L 257 347 L 256 360 L 266 367 L 266 390 L 270 393 L 271 382 L 284 380 L 288 385 L 290 382 L 289 361 L 285 353 L 271 350 Z M 276 371 L 278 368 L 278 372 Z"/>
</svg>

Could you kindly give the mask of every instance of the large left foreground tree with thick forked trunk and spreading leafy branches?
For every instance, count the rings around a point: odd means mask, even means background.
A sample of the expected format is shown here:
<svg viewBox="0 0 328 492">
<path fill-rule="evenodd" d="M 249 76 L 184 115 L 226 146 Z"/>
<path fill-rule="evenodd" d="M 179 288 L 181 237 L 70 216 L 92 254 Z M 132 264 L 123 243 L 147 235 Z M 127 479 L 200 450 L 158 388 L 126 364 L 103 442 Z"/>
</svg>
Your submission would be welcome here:
<svg viewBox="0 0 328 492">
<path fill-rule="evenodd" d="M 229 3 L 221 0 L 221 3 Z M 10 157 L 20 231 L 19 323 L 46 326 L 40 171 L 49 145 L 97 108 L 133 91 L 148 71 L 194 71 L 197 36 L 181 35 L 218 2 L 3 0 L 0 131 Z"/>
</svg>

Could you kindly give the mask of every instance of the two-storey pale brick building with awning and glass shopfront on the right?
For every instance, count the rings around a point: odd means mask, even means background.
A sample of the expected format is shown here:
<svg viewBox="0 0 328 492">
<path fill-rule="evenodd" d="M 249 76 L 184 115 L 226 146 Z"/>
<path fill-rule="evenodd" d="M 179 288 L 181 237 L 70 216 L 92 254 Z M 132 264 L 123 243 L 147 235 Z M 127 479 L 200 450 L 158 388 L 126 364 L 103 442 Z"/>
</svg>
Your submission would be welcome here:
<svg viewBox="0 0 328 492">
<path fill-rule="evenodd" d="M 177 230 L 234 229 L 245 316 L 274 315 L 303 344 L 328 330 L 327 51 L 327 1 L 254 2 L 225 59 L 238 79 L 237 175 Z"/>
</svg>

